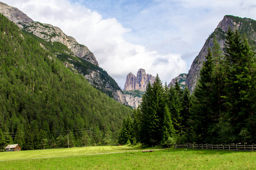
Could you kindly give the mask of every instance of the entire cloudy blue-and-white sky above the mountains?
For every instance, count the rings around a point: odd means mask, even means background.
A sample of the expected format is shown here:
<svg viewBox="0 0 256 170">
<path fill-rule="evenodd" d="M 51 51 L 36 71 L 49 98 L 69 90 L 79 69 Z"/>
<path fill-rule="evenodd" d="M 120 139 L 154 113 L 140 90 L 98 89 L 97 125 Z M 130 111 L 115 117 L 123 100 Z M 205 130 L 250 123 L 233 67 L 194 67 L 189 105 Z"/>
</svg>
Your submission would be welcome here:
<svg viewBox="0 0 256 170">
<path fill-rule="evenodd" d="M 256 19 L 255 0 L 2 0 L 57 26 L 94 53 L 123 88 L 128 73 L 169 83 L 188 73 L 225 15 Z"/>
</svg>

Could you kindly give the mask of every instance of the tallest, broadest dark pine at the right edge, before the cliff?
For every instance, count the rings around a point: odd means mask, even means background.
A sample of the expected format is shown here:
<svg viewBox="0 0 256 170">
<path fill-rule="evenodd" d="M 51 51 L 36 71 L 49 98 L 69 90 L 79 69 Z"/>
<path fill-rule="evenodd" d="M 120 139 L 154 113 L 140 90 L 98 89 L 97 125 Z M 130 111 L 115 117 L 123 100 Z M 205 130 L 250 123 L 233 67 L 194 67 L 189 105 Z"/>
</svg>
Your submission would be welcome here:
<svg viewBox="0 0 256 170">
<path fill-rule="evenodd" d="M 247 39 L 242 39 L 238 31 L 230 28 L 225 41 L 225 106 L 226 114 L 222 115 L 224 121 L 233 127 L 229 139 L 225 141 L 239 142 L 239 134 L 252 125 L 255 120 L 255 53 L 251 50 Z M 252 118 L 252 119 L 251 119 Z M 247 130 L 249 131 L 249 130 Z M 255 134 L 255 130 L 251 131 Z"/>
</svg>

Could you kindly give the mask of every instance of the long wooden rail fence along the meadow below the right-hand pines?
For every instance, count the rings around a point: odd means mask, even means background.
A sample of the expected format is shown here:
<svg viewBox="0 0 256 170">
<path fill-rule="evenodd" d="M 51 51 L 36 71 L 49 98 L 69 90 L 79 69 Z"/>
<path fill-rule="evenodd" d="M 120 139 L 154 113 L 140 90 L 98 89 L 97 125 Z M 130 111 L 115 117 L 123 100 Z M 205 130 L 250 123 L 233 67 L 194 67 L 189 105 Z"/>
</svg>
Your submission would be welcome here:
<svg viewBox="0 0 256 170">
<path fill-rule="evenodd" d="M 256 151 L 256 145 L 242 145 L 242 144 L 229 144 L 229 145 L 208 145 L 208 144 L 195 144 L 186 143 L 183 145 L 176 145 L 174 148 L 194 148 L 204 150 L 227 150 L 227 151 Z"/>
</svg>

